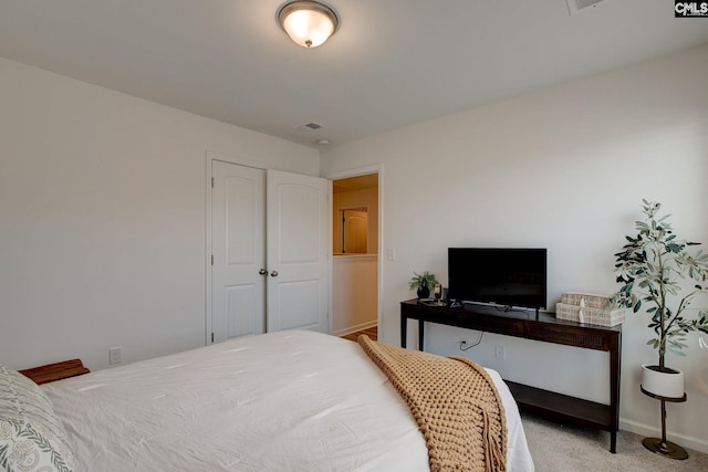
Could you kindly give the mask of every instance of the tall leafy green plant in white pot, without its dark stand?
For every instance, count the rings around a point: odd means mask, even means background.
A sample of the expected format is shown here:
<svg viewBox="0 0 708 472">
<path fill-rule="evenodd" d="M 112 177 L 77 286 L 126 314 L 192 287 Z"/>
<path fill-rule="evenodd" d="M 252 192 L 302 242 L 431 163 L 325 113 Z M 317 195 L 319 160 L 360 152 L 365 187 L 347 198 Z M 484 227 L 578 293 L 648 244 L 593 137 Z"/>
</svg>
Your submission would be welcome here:
<svg viewBox="0 0 708 472">
<path fill-rule="evenodd" d="M 622 284 L 614 300 L 620 306 L 644 308 L 652 318 L 648 327 L 655 336 L 647 344 L 658 349 L 658 365 L 642 366 L 642 388 L 660 397 L 684 396 L 684 376 L 666 365 L 666 353 L 685 356 L 686 335 L 699 332 L 699 345 L 708 334 L 708 310 L 691 307 L 699 294 L 707 294 L 708 254 L 691 252 L 698 243 L 680 240 L 674 233 L 669 216 L 658 217 L 660 203 L 643 201 L 644 221 L 636 221 L 637 234 L 626 237 L 622 252 L 615 254 L 615 273 Z M 693 280 L 688 293 L 685 279 Z M 704 300 L 705 302 L 705 300 Z"/>
</svg>

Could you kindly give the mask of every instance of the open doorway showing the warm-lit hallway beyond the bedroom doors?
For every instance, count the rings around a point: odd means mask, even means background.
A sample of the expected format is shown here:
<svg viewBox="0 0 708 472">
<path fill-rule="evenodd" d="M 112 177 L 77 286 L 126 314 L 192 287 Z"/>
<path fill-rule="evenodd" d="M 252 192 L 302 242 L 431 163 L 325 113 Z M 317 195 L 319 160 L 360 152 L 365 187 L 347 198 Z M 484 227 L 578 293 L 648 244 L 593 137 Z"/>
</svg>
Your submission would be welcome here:
<svg viewBox="0 0 708 472">
<path fill-rule="evenodd" d="M 378 174 L 332 181 L 332 334 L 377 336 Z"/>
</svg>

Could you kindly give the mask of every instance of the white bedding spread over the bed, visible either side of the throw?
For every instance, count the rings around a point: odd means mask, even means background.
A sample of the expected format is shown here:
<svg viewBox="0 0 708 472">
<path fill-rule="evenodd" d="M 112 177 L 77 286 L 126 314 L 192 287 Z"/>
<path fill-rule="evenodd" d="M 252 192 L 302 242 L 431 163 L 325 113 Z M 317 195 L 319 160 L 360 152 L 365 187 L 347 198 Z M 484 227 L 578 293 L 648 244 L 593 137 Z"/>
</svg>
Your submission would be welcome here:
<svg viewBox="0 0 708 472">
<path fill-rule="evenodd" d="M 532 471 L 518 408 L 508 469 Z M 280 332 L 42 386 L 77 471 L 428 471 L 405 401 L 357 343 Z"/>
</svg>

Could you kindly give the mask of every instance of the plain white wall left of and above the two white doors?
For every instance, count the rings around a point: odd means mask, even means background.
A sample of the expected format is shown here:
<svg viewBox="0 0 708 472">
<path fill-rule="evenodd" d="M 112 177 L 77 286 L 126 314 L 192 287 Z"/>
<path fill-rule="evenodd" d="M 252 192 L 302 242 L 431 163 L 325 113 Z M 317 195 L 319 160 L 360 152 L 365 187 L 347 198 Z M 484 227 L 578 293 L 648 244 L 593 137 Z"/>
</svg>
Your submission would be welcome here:
<svg viewBox="0 0 708 472">
<path fill-rule="evenodd" d="M 0 59 L 0 361 L 204 345 L 207 151 L 319 175 L 308 147 Z"/>
</svg>

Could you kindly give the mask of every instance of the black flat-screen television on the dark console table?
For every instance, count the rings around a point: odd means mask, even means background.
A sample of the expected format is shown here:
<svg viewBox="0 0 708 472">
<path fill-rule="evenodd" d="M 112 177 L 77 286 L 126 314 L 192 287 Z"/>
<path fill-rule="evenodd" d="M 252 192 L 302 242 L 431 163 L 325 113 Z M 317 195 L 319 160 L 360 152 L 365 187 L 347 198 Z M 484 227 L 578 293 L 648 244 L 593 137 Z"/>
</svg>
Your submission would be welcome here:
<svg viewBox="0 0 708 472">
<path fill-rule="evenodd" d="M 448 248 L 448 298 L 545 308 L 546 250 Z"/>
</svg>

